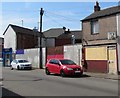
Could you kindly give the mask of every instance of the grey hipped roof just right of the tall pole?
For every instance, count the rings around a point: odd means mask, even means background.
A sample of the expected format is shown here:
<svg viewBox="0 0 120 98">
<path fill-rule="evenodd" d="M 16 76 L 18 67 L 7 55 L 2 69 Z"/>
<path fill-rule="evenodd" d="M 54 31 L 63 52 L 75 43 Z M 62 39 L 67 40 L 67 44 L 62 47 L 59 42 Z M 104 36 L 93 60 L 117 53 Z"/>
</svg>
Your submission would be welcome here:
<svg viewBox="0 0 120 98">
<path fill-rule="evenodd" d="M 63 28 L 52 28 L 43 32 L 44 36 L 49 38 L 57 38 L 62 33 L 64 33 Z"/>
</svg>

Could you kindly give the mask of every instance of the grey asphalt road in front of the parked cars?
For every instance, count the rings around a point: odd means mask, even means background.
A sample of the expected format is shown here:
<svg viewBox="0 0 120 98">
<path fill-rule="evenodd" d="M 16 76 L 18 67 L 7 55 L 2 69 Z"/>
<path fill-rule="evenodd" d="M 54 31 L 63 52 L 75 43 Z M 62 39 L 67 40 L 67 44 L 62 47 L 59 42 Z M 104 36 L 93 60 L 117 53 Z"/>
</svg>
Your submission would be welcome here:
<svg viewBox="0 0 120 98">
<path fill-rule="evenodd" d="M 3 96 L 118 96 L 118 81 L 45 75 L 43 69 L 3 68 Z"/>
</svg>

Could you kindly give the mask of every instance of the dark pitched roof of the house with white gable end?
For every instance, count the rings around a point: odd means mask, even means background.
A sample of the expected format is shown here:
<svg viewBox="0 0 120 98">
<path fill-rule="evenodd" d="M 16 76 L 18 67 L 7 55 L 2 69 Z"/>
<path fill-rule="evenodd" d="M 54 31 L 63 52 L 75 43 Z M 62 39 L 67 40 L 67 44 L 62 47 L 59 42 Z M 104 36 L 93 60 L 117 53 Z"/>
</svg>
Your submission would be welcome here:
<svg viewBox="0 0 120 98">
<path fill-rule="evenodd" d="M 24 28 L 24 27 L 12 25 L 12 24 L 9 24 L 8 27 L 7 27 L 7 29 L 9 28 L 9 26 L 11 26 L 12 29 L 13 29 L 16 33 L 23 33 L 23 34 L 40 36 L 40 35 L 39 35 L 40 32 L 34 31 L 34 30 L 32 30 L 32 29 L 28 29 L 28 28 Z M 5 30 L 5 32 L 3 33 L 3 35 L 6 33 L 7 29 Z"/>
</svg>

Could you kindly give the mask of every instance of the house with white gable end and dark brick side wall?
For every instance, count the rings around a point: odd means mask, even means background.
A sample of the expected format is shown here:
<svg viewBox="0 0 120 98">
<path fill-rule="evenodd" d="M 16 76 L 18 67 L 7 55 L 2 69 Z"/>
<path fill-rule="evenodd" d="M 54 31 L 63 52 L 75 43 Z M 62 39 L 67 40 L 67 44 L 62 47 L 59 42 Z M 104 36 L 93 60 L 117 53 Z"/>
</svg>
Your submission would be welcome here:
<svg viewBox="0 0 120 98">
<path fill-rule="evenodd" d="M 3 35 L 4 48 L 12 48 L 15 52 L 19 49 L 38 47 L 40 33 L 36 30 L 9 24 Z"/>
</svg>

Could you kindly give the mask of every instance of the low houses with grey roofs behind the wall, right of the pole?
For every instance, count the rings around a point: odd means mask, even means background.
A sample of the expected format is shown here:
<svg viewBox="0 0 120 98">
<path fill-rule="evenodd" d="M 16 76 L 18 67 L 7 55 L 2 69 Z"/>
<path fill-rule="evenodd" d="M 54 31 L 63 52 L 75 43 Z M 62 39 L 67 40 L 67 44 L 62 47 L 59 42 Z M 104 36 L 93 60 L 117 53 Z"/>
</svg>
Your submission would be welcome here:
<svg viewBox="0 0 120 98">
<path fill-rule="evenodd" d="M 47 47 L 56 47 L 63 45 L 70 45 L 76 43 L 82 43 L 82 32 L 81 31 L 65 31 L 63 28 L 52 28 L 43 32 L 46 38 Z M 73 37 L 73 38 L 72 38 Z"/>
</svg>

